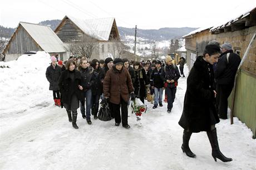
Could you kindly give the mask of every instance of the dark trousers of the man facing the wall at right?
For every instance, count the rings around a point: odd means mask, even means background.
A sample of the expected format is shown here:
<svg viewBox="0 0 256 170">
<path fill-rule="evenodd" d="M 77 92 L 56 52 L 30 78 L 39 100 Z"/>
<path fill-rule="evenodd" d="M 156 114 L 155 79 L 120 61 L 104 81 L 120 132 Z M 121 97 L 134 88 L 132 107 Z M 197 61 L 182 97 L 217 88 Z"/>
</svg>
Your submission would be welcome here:
<svg viewBox="0 0 256 170">
<path fill-rule="evenodd" d="M 218 114 L 222 119 L 228 118 L 228 97 L 232 92 L 233 84 L 217 84 Z"/>
</svg>

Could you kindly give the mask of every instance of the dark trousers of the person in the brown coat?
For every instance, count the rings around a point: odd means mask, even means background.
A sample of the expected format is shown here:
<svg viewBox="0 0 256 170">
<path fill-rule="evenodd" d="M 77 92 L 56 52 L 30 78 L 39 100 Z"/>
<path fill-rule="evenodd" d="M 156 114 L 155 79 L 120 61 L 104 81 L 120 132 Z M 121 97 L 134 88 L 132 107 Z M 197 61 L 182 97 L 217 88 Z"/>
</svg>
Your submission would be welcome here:
<svg viewBox="0 0 256 170">
<path fill-rule="evenodd" d="M 120 116 L 120 104 L 121 104 L 121 116 Z M 124 101 L 121 97 L 120 104 L 114 104 L 111 103 L 112 105 L 112 111 L 114 113 L 115 117 L 115 122 L 116 123 L 121 123 L 121 118 L 122 118 L 122 126 L 125 126 L 128 124 L 128 104 L 127 102 Z"/>
</svg>

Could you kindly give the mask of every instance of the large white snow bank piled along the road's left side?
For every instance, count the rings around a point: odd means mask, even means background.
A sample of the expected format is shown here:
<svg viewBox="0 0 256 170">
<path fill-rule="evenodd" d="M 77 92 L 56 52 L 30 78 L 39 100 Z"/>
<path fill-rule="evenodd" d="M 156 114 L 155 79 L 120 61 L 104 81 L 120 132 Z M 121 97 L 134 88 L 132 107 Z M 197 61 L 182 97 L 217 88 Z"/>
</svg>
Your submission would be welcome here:
<svg viewBox="0 0 256 170">
<path fill-rule="evenodd" d="M 48 104 L 51 93 L 45 72 L 50 62 L 50 55 L 45 52 L 22 55 L 17 61 L 0 62 L 10 67 L 0 69 L 0 117 Z"/>
</svg>

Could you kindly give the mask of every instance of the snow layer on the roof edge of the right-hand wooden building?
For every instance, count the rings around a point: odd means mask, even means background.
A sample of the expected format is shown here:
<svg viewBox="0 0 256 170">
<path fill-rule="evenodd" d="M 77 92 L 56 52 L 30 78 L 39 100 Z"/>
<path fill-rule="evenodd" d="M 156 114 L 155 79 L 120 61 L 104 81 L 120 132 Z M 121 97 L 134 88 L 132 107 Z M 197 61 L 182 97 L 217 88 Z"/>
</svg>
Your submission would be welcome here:
<svg viewBox="0 0 256 170">
<path fill-rule="evenodd" d="M 256 6 L 256 3 L 255 3 L 255 6 Z M 250 12 L 252 12 L 254 9 L 256 9 L 255 6 L 253 6 L 253 5 L 252 6 L 244 6 L 243 12 L 240 12 L 239 15 L 237 15 L 237 17 L 233 17 L 232 19 L 229 19 L 228 22 L 216 24 L 216 26 L 212 27 L 210 29 L 210 31 L 215 31 L 217 29 L 230 26 L 232 23 L 239 21 L 239 19 L 243 19 L 243 18 L 247 17 L 250 14 Z"/>
</svg>

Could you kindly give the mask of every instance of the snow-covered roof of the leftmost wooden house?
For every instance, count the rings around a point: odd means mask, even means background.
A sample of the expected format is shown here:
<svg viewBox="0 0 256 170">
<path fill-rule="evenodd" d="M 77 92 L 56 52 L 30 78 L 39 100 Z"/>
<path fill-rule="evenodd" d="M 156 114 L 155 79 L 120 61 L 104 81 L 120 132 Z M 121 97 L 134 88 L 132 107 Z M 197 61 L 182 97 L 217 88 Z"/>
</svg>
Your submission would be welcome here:
<svg viewBox="0 0 256 170">
<path fill-rule="evenodd" d="M 26 29 L 28 34 L 37 42 L 43 51 L 47 53 L 65 52 L 63 42 L 52 31 L 51 27 L 26 22 L 19 22 L 19 24 Z"/>
</svg>

